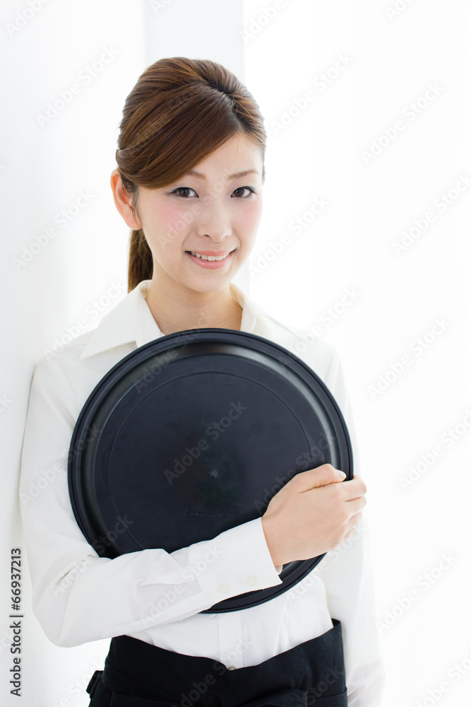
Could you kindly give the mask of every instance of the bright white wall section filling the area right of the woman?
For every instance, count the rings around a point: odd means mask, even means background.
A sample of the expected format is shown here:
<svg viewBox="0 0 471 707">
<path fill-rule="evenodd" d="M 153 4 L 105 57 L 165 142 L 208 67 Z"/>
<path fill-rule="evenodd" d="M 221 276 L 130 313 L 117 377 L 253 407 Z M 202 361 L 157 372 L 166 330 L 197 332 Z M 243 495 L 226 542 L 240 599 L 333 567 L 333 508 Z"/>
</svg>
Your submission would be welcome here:
<svg viewBox="0 0 471 707">
<path fill-rule="evenodd" d="M 269 20 L 263 8 L 274 2 L 244 7 L 245 81 L 268 130 L 251 292 L 285 320 L 320 329 L 345 366 L 362 457 L 357 472 L 368 487 L 387 672 L 381 707 L 465 705 L 470 5 L 285 0 Z M 335 69 L 342 56 L 347 61 Z M 430 84 L 437 95 L 421 100 Z M 398 120 L 403 129 L 395 135 Z M 365 159 L 381 136 L 377 155 Z M 322 198 L 326 206 L 314 206 L 319 213 L 307 224 L 304 214 Z M 290 223 L 299 216 L 306 226 L 297 233 Z M 405 231 L 410 245 L 396 253 Z M 403 356 L 409 363 L 395 374 Z M 382 376 L 384 390 L 375 392 Z M 408 474 L 415 480 L 403 487 Z"/>
</svg>

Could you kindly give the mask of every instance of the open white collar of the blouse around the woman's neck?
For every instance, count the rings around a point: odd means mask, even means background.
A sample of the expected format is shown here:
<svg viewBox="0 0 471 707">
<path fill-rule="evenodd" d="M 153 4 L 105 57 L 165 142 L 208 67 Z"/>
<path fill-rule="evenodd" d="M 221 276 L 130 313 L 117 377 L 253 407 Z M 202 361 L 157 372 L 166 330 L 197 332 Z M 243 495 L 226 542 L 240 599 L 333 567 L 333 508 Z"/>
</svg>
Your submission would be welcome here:
<svg viewBox="0 0 471 707">
<path fill-rule="evenodd" d="M 93 329 L 80 361 L 123 344 L 135 343 L 138 348 L 163 336 L 145 300 L 149 286 L 150 280 L 141 281 L 102 318 Z M 253 331 L 257 315 L 269 316 L 261 305 L 233 282 L 229 283 L 229 290 L 232 298 L 242 307 L 241 331 Z"/>
</svg>

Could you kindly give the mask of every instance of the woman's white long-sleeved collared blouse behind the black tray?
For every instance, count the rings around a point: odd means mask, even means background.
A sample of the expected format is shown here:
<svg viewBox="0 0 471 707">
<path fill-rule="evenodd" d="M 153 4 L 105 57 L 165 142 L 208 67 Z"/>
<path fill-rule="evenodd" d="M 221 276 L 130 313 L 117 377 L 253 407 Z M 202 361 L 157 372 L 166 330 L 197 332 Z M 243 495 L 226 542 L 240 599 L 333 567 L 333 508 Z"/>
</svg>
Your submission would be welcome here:
<svg viewBox="0 0 471 707">
<path fill-rule="evenodd" d="M 91 332 L 44 354 L 32 379 L 21 457 L 20 506 L 32 607 L 47 637 L 72 646 L 127 634 L 229 669 L 256 665 L 342 622 L 349 707 L 377 707 L 383 662 L 375 625 L 366 511 L 354 534 L 290 590 L 249 609 L 201 614 L 222 599 L 281 584 L 261 518 L 174 552 L 98 556 L 73 515 L 67 457 L 78 414 L 121 358 L 163 336 L 142 281 Z M 234 283 L 243 332 L 285 346 L 326 383 L 345 417 L 355 473 L 357 441 L 338 354 L 286 326 Z M 119 529 L 118 529 L 119 530 Z"/>
</svg>

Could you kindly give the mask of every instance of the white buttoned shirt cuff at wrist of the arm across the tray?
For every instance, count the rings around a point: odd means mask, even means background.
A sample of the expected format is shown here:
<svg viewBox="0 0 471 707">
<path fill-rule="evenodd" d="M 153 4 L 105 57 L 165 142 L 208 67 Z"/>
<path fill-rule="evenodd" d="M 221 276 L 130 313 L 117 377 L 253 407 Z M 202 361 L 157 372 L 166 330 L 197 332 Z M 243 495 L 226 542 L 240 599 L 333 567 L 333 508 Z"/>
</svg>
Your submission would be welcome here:
<svg viewBox="0 0 471 707">
<path fill-rule="evenodd" d="M 256 518 L 189 546 L 190 571 L 213 604 L 282 584 Z"/>
</svg>

